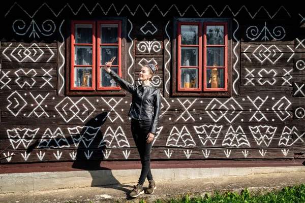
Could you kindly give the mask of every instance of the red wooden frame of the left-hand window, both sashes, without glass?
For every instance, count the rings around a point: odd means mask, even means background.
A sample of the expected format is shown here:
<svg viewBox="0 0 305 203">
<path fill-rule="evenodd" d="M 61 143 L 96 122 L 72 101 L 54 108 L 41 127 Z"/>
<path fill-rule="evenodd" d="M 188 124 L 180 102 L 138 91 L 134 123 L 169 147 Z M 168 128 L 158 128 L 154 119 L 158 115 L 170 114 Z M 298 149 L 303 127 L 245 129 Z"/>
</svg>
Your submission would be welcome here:
<svg viewBox="0 0 305 203">
<path fill-rule="evenodd" d="M 92 25 L 92 43 L 77 44 L 75 43 L 75 25 L 77 24 L 91 24 Z M 118 43 L 115 44 L 101 44 L 100 26 L 102 24 L 117 24 L 118 25 Z M 96 37 L 98 36 L 98 37 Z M 74 63 L 75 46 L 92 46 L 92 65 L 76 65 Z M 118 47 L 117 64 L 113 64 L 113 67 L 117 67 L 118 75 L 121 77 L 121 21 L 120 20 L 75 20 L 71 21 L 71 65 L 70 65 L 70 89 L 71 90 L 121 90 L 118 87 L 101 87 L 101 67 L 104 64 L 100 64 L 101 61 L 101 45 L 111 45 Z M 76 87 L 74 86 L 74 73 L 75 67 L 92 67 L 92 87 Z M 97 80 L 97 82 L 96 82 Z"/>
</svg>

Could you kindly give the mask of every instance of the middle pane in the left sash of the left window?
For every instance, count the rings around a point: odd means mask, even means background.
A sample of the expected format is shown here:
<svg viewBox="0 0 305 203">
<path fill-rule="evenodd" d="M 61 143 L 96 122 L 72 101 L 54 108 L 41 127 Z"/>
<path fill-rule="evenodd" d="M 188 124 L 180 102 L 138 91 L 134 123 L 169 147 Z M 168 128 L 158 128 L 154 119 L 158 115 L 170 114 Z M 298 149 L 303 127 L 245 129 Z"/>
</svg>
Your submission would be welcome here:
<svg viewBox="0 0 305 203">
<path fill-rule="evenodd" d="M 92 65 L 92 46 L 75 46 L 74 64 Z"/>
</svg>

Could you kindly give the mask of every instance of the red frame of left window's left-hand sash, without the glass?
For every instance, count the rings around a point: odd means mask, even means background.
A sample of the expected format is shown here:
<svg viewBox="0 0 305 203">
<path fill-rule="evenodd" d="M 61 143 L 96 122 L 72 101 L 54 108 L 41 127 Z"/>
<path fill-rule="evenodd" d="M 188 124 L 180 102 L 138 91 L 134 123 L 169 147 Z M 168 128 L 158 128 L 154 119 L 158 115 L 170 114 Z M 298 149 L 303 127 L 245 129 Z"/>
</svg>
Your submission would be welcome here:
<svg viewBox="0 0 305 203">
<path fill-rule="evenodd" d="M 75 25 L 76 24 L 91 24 L 92 25 L 92 43 L 90 44 L 76 44 L 75 43 Z M 95 39 L 95 31 L 96 31 L 96 22 L 95 21 L 72 21 L 71 22 L 71 90 L 95 90 L 96 86 L 96 39 Z M 75 54 L 75 46 L 88 46 L 92 45 L 92 65 L 76 65 L 74 64 L 74 54 Z M 74 70 L 75 67 L 92 67 L 92 87 L 75 87 L 74 86 Z"/>
</svg>

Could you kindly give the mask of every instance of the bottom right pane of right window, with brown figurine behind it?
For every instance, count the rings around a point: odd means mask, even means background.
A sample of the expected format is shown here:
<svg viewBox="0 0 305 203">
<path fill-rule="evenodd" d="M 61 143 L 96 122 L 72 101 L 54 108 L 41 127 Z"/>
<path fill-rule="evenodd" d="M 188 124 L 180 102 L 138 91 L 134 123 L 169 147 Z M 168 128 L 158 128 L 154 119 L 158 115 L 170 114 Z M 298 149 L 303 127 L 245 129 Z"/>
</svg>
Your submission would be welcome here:
<svg viewBox="0 0 305 203">
<path fill-rule="evenodd" d="M 207 88 L 224 88 L 225 84 L 224 69 L 206 69 L 206 87 Z"/>
</svg>

